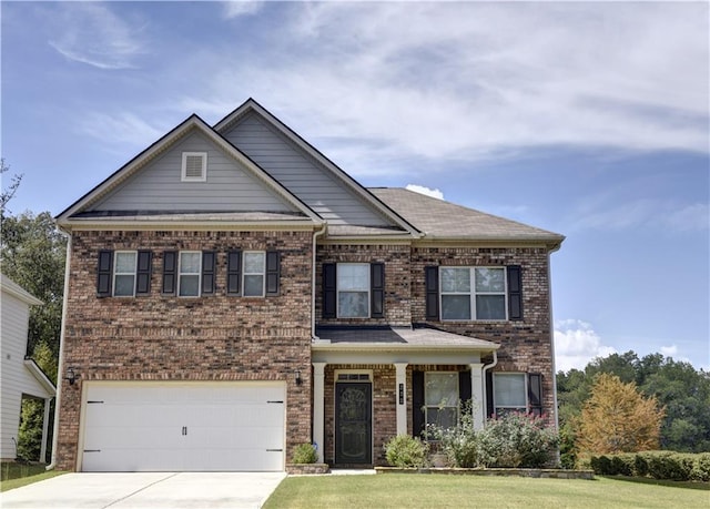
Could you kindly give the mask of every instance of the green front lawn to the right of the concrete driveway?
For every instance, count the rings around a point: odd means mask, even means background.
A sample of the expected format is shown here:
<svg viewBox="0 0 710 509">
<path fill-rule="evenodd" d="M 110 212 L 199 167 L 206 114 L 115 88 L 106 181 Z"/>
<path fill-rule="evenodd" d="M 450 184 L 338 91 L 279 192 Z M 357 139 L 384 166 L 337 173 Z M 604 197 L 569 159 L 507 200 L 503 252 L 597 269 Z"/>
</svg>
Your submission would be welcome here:
<svg viewBox="0 0 710 509">
<path fill-rule="evenodd" d="M 280 508 L 703 508 L 708 483 L 386 474 L 288 477 L 264 509 Z"/>
</svg>

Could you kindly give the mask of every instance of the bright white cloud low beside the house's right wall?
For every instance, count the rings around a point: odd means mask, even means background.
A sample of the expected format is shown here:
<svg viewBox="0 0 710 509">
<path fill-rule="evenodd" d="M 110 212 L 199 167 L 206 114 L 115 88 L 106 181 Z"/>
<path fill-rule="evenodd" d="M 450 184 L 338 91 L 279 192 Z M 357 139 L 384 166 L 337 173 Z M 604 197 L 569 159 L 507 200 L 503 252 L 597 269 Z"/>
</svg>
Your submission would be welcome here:
<svg viewBox="0 0 710 509">
<path fill-rule="evenodd" d="M 558 371 L 584 369 L 595 357 L 616 353 L 613 347 L 602 344 L 590 324 L 578 319 L 555 322 L 555 368 Z"/>
</svg>

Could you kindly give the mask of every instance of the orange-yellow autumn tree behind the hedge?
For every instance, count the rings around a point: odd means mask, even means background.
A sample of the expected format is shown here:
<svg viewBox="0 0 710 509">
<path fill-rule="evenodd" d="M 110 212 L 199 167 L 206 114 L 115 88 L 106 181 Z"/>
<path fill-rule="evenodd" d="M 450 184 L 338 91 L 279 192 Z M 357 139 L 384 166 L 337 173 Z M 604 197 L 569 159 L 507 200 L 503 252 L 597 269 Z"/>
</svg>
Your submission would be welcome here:
<svg viewBox="0 0 710 509">
<path fill-rule="evenodd" d="M 581 410 L 577 449 L 594 454 L 658 449 L 665 413 L 656 397 L 645 398 L 635 383 L 602 373 Z"/>
</svg>

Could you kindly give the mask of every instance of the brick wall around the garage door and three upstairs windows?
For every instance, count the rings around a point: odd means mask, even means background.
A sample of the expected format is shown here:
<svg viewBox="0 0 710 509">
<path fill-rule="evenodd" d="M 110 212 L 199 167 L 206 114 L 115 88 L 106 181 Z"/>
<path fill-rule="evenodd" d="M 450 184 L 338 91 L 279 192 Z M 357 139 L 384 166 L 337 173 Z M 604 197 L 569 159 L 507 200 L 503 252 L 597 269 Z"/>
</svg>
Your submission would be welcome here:
<svg viewBox="0 0 710 509">
<path fill-rule="evenodd" d="M 72 235 L 64 362 L 80 379 L 64 385 L 58 468 L 77 467 L 84 380 L 286 380 L 286 462 L 311 440 L 310 232 L 75 232 Z M 151 293 L 97 297 L 100 250 L 151 250 Z M 278 296 L 227 296 L 226 252 L 281 253 Z M 216 292 L 161 295 L 165 251 L 216 251 Z M 303 385 L 296 386 L 300 369 Z"/>
</svg>

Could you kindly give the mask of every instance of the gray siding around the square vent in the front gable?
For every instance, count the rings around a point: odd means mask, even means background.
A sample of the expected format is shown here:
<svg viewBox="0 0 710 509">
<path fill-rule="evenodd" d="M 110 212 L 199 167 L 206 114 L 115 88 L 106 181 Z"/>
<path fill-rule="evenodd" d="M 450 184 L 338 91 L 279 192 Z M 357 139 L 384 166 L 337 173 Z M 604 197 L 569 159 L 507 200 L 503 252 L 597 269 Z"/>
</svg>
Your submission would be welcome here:
<svg viewBox="0 0 710 509">
<path fill-rule="evenodd" d="M 205 152 L 205 182 L 182 182 L 182 153 Z M 88 211 L 296 212 L 251 171 L 194 129 Z"/>
</svg>

